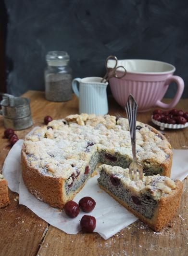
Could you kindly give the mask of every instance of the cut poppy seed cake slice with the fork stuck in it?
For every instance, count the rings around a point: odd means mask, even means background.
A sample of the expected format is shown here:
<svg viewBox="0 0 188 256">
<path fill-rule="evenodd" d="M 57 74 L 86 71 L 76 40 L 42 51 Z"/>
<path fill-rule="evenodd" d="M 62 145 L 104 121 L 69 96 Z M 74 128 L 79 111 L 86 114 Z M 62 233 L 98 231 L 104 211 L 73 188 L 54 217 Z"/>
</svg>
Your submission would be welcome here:
<svg viewBox="0 0 188 256">
<path fill-rule="evenodd" d="M 179 180 L 158 174 L 132 181 L 128 169 L 101 165 L 99 170 L 100 187 L 155 231 L 175 215 L 183 189 Z"/>
</svg>

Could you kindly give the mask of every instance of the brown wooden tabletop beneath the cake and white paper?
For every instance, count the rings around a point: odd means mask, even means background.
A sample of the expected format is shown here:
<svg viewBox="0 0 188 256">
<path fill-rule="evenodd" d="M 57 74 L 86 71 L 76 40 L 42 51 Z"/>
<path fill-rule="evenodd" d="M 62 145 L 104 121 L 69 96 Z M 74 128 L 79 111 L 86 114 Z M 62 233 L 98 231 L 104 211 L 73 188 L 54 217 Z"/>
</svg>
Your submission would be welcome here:
<svg viewBox="0 0 188 256">
<path fill-rule="evenodd" d="M 78 113 L 78 100 L 50 102 L 43 92 L 28 91 L 25 97 L 31 99 L 31 112 L 34 126 L 43 125 L 45 115 L 53 119 Z M 170 100 L 165 100 L 169 102 Z M 180 100 L 177 109 L 188 111 L 188 100 Z M 125 111 L 109 99 L 109 114 L 125 115 Z M 138 120 L 150 124 L 150 112 L 138 114 Z M 31 128 L 17 131 L 20 139 Z M 3 121 L 0 117 L 0 170 L 10 150 L 9 142 L 3 139 Z M 188 149 L 188 128 L 165 130 L 165 136 L 175 149 Z M 188 180 L 184 180 L 184 194 L 175 214 L 172 227 L 154 232 L 141 221 L 124 228 L 119 233 L 103 240 L 97 233 L 68 235 L 50 226 L 19 205 L 16 193 L 9 191 L 11 204 L 0 210 L 0 256 L 183 256 L 188 255 Z"/>
</svg>

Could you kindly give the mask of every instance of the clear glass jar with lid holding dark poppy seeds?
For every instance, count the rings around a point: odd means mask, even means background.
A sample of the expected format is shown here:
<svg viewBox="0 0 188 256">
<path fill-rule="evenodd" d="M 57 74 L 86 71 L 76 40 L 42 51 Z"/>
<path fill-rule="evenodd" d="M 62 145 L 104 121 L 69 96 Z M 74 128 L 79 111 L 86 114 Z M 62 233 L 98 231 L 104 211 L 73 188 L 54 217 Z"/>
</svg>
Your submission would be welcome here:
<svg viewBox="0 0 188 256">
<path fill-rule="evenodd" d="M 50 101 L 66 101 L 72 98 L 72 70 L 69 55 L 64 51 L 50 51 L 46 55 L 45 96 Z"/>
</svg>

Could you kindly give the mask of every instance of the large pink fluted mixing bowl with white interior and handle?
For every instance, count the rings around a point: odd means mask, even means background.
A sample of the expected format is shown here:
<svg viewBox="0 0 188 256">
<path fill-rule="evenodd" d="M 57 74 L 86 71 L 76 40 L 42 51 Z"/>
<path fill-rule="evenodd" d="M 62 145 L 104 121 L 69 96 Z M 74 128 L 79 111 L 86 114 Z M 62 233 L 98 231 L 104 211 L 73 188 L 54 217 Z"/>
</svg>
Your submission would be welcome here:
<svg viewBox="0 0 188 256">
<path fill-rule="evenodd" d="M 114 61 L 108 61 L 108 67 L 113 67 Z M 111 78 L 109 83 L 113 97 L 125 107 L 131 93 L 138 103 L 138 111 L 147 111 L 152 107 L 173 108 L 180 100 L 184 90 L 184 81 L 181 77 L 173 75 L 175 67 L 171 64 L 146 59 L 118 60 L 118 66 L 124 66 L 127 73 L 125 77 Z M 121 75 L 122 71 L 117 71 Z M 177 92 L 169 104 L 161 100 L 171 82 L 177 84 Z"/>
</svg>

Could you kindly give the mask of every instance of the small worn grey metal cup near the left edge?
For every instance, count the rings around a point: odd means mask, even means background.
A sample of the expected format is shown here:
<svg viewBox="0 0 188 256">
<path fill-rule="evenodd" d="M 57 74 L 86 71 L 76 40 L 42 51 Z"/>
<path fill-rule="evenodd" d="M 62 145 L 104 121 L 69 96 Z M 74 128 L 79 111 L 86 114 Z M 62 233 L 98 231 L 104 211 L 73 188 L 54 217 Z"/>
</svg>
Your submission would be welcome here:
<svg viewBox="0 0 188 256">
<path fill-rule="evenodd" d="M 3 116 L 5 128 L 23 130 L 33 125 L 31 118 L 30 100 L 14 97 L 10 94 L 2 94 L 0 101 L 0 114 Z"/>
</svg>

